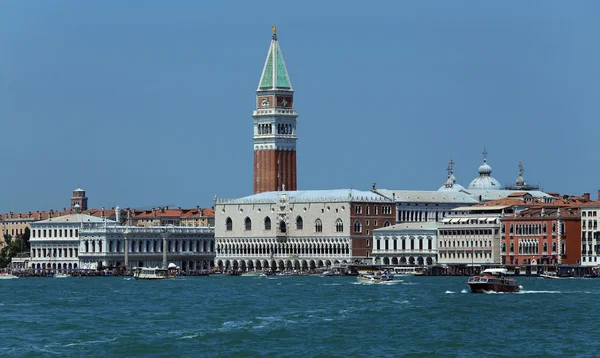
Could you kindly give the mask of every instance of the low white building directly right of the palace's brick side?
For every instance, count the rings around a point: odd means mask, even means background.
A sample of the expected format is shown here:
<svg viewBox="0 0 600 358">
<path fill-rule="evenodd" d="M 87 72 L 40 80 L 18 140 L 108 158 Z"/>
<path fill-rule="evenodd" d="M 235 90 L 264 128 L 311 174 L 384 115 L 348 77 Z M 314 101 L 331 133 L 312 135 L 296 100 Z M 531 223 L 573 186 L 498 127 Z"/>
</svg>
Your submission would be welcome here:
<svg viewBox="0 0 600 358">
<path fill-rule="evenodd" d="M 403 223 L 373 230 L 373 262 L 383 265 L 435 265 L 437 223 Z"/>
</svg>

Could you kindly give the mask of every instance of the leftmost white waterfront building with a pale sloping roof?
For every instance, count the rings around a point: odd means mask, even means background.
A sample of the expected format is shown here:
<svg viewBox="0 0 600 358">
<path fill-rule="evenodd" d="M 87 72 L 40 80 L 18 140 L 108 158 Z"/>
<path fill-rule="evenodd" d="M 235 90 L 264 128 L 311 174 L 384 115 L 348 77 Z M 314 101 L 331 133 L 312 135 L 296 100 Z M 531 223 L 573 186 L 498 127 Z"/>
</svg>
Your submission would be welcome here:
<svg viewBox="0 0 600 358">
<path fill-rule="evenodd" d="M 71 214 L 31 223 L 30 268 L 76 269 L 79 264 L 79 232 L 85 224 L 116 222 L 85 214 Z"/>
</svg>

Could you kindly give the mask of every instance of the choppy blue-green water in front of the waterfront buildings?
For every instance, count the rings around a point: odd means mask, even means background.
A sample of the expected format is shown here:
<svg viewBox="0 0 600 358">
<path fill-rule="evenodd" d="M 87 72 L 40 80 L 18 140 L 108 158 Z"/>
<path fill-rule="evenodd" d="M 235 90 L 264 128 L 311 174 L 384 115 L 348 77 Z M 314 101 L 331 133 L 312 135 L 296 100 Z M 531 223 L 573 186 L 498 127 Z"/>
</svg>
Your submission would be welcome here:
<svg viewBox="0 0 600 358">
<path fill-rule="evenodd" d="M 0 356 L 597 357 L 600 280 L 466 277 L 0 281 Z"/>
</svg>

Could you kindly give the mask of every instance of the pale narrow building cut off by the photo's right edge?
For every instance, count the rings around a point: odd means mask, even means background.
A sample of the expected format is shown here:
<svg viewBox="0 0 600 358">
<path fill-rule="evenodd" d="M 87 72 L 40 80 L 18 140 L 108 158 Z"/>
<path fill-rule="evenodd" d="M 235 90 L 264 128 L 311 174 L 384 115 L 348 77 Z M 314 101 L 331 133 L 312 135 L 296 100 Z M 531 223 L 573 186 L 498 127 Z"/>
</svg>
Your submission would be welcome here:
<svg viewBox="0 0 600 358">
<path fill-rule="evenodd" d="M 600 195 L 600 191 L 598 193 Z M 581 212 L 581 264 L 600 266 L 600 197 L 598 201 L 582 204 Z"/>
</svg>

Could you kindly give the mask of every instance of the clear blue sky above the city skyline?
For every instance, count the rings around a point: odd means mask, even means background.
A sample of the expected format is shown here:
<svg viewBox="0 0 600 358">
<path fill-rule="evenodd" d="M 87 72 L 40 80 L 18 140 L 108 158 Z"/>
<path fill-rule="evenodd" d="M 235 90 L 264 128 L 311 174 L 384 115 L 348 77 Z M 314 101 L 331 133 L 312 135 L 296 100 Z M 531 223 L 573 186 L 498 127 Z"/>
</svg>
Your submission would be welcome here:
<svg viewBox="0 0 600 358">
<path fill-rule="evenodd" d="M 0 212 L 252 194 L 271 39 L 296 90 L 299 189 L 492 175 L 600 188 L 594 1 L 0 2 Z"/>
</svg>

